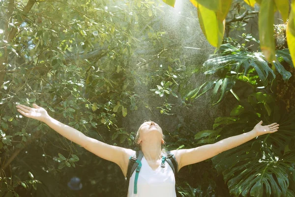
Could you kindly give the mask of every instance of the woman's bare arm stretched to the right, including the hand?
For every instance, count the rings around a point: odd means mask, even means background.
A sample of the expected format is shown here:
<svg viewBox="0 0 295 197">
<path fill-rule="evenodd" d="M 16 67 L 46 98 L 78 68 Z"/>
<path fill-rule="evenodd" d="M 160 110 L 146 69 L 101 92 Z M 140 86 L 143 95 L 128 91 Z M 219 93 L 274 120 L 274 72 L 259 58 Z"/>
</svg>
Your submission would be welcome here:
<svg viewBox="0 0 295 197">
<path fill-rule="evenodd" d="M 237 136 L 229 137 L 227 139 L 217 141 L 213 144 L 206 144 L 191 149 L 180 149 L 171 151 L 178 162 L 178 169 L 195 164 L 211 157 L 218 155 L 221 152 L 234 148 L 241 145 L 247 141 L 252 140 L 257 136 L 261 136 L 267 133 L 274 133 L 278 130 L 279 124 L 272 123 L 270 125 L 262 126 L 262 121 L 260 121 L 253 130 L 243 133 Z"/>
</svg>

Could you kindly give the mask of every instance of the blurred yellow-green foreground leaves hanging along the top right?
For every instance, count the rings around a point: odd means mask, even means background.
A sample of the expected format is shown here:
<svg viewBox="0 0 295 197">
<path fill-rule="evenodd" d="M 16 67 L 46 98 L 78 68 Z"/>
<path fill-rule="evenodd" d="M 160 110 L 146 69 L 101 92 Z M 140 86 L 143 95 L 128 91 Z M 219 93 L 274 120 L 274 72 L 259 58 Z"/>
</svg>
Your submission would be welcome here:
<svg viewBox="0 0 295 197">
<path fill-rule="evenodd" d="M 163 0 L 174 7 L 175 0 Z M 223 41 L 225 32 L 225 19 L 230 10 L 233 0 L 190 0 L 198 8 L 200 26 L 208 42 L 219 48 Z M 284 22 L 289 17 L 287 25 L 287 42 L 293 61 L 295 60 L 295 0 L 291 2 L 289 16 L 289 0 L 244 0 L 254 7 L 255 3 L 260 5 L 259 12 L 259 38 L 260 48 L 269 62 L 275 61 L 275 42 L 273 37 L 273 14 L 279 11 Z M 206 16 L 206 17 L 205 17 Z"/>
</svg>

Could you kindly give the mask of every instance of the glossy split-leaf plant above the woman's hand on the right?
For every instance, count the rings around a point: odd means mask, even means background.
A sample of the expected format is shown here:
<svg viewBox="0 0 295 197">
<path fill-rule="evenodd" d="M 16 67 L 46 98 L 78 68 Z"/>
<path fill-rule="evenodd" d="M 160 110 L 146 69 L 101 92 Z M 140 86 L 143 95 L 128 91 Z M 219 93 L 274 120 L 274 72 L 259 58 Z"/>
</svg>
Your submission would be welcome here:
<svg viewBox="0 0 295 197">
<path fill-rule="evenodd" d="M 241 37 L 246 42 L 255 40 L 250 34 L 243 34 Z M 226 41 L 234 42 L 231 38 Z M 197 99 L 212 90 L 213 95 L 218 97 L 213 105 L 218 104 L 229 91 L 239 101 L 239 97 L 234 91 L 236 81 L 244 82 L 255 89 L 272 84 L 276 73 L 282 76 L 284 82 L 290 79 L 292 74 L 282 65 L 282 62 L 286 62 L 293 66 L 288 49 L 277 50 L 277 61 L 268 63 L 261 52 L 249 52 L 245 48 L 245 43 L 234 43 L 237 46 L 230 43 L 221 45 L 218 51 L 219 56 L 210 58 L 203 64 L 204 70 L 206 70 L 205 75 L 215 74 L 217 77 L 213 81 L 207 81 L 191 90 L 185 95 L 185 99 Z M 269 66 L 270 64 L 272 67 Z"/>
</svg>

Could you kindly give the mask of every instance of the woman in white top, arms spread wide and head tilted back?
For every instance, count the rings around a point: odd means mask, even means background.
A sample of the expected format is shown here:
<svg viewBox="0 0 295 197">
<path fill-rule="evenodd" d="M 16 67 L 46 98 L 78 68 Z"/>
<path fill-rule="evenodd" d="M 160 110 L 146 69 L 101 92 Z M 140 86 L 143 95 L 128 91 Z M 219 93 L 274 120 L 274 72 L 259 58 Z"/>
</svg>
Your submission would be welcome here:
<svg viewBox="0 0 295 197">
<path fill-rule="evenodd" d="M 109 145 L 101 141 L 89 138 L 78 130 L 69 127 L 58 120 L 50 117 L 45 109 L 33 104 L 34 108 L 24 105 L 16 106 L 21 114 L 40 120 L 57 131 L 70 141 L 73 141 L 95 155 L 118 164 L 124 176 L 127 174 L 127 167 L 130 156 L 135 155 L 135 151 L 127 148 Z M 253 130 L 234 137 L 230 137 L 213 144 L 206 144 L 191 149 L 179 149 L 170 151 L 174 154 L 178 170 L 184 166 L 195 164 L 207 160 L 219 153 L 234 148 L 246 141 L 266 134 L 274 133 L 279 125 L 272 123 L 262 126 L 260 121 Z M 176 197 L 175 178 L 169 165 L 167 168 L 160 168 L 162 161 L 161 144 L 164 143 L 161 127 L 153 121 L 144 122 L 137 133 L 137 143 L 144 154 L 142 158 L 142 169 L 138 177 L 138 192 L 134 194 L 134 174 L 130 177 L 128 197 Z"/>
</svg>

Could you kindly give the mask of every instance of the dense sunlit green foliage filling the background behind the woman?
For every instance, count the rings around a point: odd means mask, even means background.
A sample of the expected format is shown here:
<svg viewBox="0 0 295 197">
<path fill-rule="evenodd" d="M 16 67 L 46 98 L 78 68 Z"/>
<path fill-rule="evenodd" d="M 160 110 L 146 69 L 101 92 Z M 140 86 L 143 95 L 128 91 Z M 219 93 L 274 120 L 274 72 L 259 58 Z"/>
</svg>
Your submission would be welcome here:
<svg viewBox="0 0 295 197">
<path fill-rule="evenodd" d="M 231 4 L 215 52 L 190 2 L 0 1 L 0 195 L 124 194 L 117 165 L 15 108 L 37 103 L 85 135 L 127 148 L 148 119 L 162 127 L 169 150 L 248 132 L 260 120 L 278 122 L 274 134 L 181 169 L 177 195 L 295 196 L 286 24 L 275 28 L 276 61 L 269 63 L 261 40 L 244 32 L 257 9 L 245 1 Z M 67 187 L 73 176 L 82 180 L 79 191 Z"/>
</svg>

